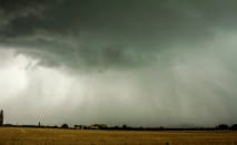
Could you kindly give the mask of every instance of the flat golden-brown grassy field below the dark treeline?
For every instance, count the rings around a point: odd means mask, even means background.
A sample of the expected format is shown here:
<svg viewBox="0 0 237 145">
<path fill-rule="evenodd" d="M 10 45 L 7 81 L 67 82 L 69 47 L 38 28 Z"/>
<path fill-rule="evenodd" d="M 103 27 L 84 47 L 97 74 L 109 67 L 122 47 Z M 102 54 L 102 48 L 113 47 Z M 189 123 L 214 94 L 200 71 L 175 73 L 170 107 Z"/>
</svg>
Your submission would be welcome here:
<svg viewBox="0 0 237 145">
<path fill-rule="evenodd" d="M 135 132 L 0 127 L 0 145 L 237 145 L 237 132 Z"/>
</svg>

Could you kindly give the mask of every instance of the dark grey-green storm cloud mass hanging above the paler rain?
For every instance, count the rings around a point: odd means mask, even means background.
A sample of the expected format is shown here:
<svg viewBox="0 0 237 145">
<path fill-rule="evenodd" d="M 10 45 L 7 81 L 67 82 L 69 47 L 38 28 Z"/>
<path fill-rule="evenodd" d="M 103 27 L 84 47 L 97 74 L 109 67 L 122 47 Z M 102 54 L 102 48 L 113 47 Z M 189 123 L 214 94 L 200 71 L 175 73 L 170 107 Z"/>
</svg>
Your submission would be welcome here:
<svg viewBox="0 0 237 145">
<path fill-rule="evenodd" d="M 1 27 L 2 42 L 49 51 L 62 62 L 72 53 L 75 63 L 110 66 L 149 62 L 175 43 L 208 41 L 215 29 L 234 27 L 236 13 L 231 0 L 2 1 L 2 10 L 13 15 Z"/>
</svg>

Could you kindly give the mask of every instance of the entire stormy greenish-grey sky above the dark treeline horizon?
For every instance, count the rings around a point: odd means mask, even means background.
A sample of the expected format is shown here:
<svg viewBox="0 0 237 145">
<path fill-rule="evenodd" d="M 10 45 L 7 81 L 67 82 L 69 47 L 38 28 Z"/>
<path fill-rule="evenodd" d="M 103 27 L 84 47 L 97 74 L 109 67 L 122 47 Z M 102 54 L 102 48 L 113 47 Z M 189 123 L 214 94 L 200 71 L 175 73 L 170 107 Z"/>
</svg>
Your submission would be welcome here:
<svg viewBox="0 0 237 145">
<path fill-rule="evenodd" d="M 0 0 L 4 123 L 237 123 L 236 15 L 236 0 Z"/>
</svg>

